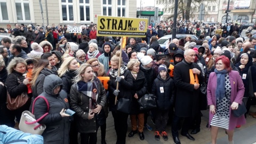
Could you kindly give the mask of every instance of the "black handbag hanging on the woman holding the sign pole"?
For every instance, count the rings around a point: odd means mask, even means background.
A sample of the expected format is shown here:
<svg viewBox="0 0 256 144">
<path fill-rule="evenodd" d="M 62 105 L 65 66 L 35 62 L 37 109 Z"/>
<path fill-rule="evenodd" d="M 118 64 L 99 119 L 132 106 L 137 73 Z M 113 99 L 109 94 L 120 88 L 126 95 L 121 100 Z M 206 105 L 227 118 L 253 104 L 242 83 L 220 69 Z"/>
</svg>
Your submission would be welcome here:
<svg viewBox="0 0 256 144">
<path fill-rule="evenodd" d="M 120 98 L 117 100 L 117 110 L 123 113 L 130 114 L 131 105 L 131 99 Z"/>
</svg>

